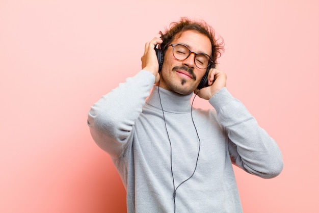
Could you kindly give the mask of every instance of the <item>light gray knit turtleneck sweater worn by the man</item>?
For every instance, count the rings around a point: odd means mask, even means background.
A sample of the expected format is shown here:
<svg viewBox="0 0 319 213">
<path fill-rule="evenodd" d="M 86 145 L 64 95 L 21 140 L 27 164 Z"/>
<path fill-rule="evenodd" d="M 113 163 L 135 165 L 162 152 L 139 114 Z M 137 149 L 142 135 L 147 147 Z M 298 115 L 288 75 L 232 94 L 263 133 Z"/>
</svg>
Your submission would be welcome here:
<svg viewBox="0 0 319 213">
<path fill-rule="evenodd" d="M 88 116 L 94 141 L 122 178 L 127 211 L 242 212 L 232 164 L 277 176 L 283 163 L 275 141 L 226 88 L 209 100 L 214 109 L 191 110 L 192 94 L 158 93 L 154 80 L 145 70 L 127 78 Z"/>
</svg>

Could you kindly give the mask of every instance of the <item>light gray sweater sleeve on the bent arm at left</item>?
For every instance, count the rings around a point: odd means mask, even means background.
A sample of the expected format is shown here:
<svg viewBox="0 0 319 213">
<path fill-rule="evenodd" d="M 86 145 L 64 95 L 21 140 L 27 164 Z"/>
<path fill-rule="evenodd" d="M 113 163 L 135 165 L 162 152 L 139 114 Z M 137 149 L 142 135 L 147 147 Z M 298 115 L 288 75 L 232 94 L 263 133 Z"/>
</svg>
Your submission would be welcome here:
<svg viewBox="0 0 319 213">
<path fill-rule="evenodd" d="M 101 97 L 89 111 L 88 125 L 95 143 L 113 158 L 132 139 L 132 129 L 153 87 L 155 76 L 141 70 Z"/>
</svg>

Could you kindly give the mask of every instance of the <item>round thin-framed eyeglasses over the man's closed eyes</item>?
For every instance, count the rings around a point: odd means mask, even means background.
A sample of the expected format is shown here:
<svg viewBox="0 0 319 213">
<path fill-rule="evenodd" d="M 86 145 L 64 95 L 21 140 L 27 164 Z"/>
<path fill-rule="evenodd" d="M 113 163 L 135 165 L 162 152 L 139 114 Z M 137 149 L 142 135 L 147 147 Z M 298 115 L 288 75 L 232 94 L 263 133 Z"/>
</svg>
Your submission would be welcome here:
<svg viewBox="0 0 319 213">
<path fill-rule="evenodd" d="M 168 46 L 173 47 L 173 56 L 178 61 L 186 60 L 193 53 L 195 55 L 195 65 L 199 69 L 206 69 L 213 63 L 207 54 L 192 52 L 190 48 L 184 44 L 171 44 Z"/>
</svg>

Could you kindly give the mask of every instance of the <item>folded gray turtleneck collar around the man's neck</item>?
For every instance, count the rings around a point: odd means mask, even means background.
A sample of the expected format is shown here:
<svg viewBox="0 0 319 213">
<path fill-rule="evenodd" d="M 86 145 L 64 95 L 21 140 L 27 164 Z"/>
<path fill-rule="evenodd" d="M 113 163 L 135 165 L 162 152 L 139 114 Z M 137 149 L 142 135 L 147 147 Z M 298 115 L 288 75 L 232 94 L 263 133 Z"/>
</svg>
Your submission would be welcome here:
<svg viewBox="0 0 319 213">
<path fill-rule="evenodd" d="M 159 89 L 159 96 L 158 96 Z M 191 112 L 191 97 L 193 93 L 189 95 L 181 95 L 175 92 L 168 91 L 158 86 L 153 86 L 150 96 L 146 100 L 146 103 L 152 105 L 155 108 L 171 113 L 189 113 Z M 159 99 L 161 97 L 161 99 Z M 161 102 L 159 102 L 161 100 Z"/>
</svg>

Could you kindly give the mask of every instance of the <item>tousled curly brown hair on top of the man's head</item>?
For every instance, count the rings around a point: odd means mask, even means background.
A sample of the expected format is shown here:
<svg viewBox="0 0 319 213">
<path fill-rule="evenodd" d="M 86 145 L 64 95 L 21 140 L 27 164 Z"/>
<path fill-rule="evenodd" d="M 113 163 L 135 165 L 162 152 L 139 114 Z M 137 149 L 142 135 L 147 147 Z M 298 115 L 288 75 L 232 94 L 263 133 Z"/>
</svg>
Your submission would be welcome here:
<svg viewBox="0 0 319 213">
<path fill-rule="evenodd" d="M 160 45 L 163 50 L 163 54 L 167 51 L 168 45 L 172 42 L 173 39 L 178 38 L 185 31 L 196 31 L 207 36 L 211 43 L 211 56 L 210 58 L 214 63 L 216 63 L 217 59 L 222 55 L 224 51 L 224 42 L 220 37 L 221 42 L 215 38 L 215 31 L 212 29 L 210 25 L 208 25 L 205 21 L 192 21 L 187 17 L 181 17 L 179 22 L 172 22 L 170 24 L 170 29 L 166 29 L 163 33 L 159 31 L 163 43 Z"/>
</svg>

